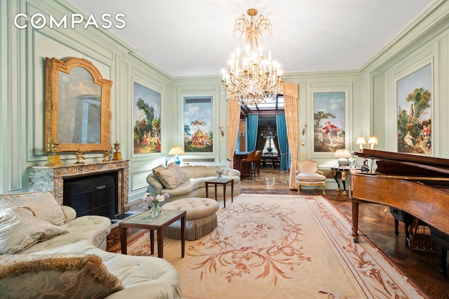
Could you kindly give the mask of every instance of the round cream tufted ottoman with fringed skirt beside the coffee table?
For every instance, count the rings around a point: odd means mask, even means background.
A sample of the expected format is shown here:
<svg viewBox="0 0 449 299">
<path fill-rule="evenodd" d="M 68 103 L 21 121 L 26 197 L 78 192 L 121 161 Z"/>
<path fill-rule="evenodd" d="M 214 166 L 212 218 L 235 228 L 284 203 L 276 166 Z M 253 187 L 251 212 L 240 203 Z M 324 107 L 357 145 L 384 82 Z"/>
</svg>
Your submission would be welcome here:
<svg viewBox="0 0 449 299">
<path fill-rule="evenodd" d="M 164 204 L 166 210 L 184 210 L 186 216 L 186 236 L 189 241 L 197 240 L 210 234 L 217 227 L 217 214 L 219 205 L 213 199 L 192 197 L 177 199 Z M 170 239 L 181 239 L 181 222 L 178 220 L 163 230 L 163 235 Z"/>
</svg>

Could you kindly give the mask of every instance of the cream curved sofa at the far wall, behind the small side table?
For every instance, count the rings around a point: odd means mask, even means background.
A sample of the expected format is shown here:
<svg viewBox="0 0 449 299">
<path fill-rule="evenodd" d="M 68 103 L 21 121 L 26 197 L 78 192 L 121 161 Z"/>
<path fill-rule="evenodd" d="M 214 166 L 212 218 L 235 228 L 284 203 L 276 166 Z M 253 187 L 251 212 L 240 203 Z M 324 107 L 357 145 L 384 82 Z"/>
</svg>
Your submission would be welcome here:
<svg viewBox="0 0 449 299">
<path fill-rule="evenodd" d="M 153 168 L 152 173 L 147 176 L 149 193 L 168 193 L 170 198 L 165 202 L 188 197 L 206 197 L 206 180 L 217 178 L 217 171 L 222 170 L 222 178 L 234 180 L 234 196 L 241 194 L 240 171 L 221 166 L 186 165 L 177 166 L 168 164 L 165 168 L 158 166 Z M 227 185 L 226 197 L 231 195 L 231 186 Z M 223 187 L 217 187 L 217 197 L 223 196 Z M 209 185 L 208 197 L 215 199 L 215 188 Z M 165 203 L 164 202 L 164 203 Z"/>
</svg>

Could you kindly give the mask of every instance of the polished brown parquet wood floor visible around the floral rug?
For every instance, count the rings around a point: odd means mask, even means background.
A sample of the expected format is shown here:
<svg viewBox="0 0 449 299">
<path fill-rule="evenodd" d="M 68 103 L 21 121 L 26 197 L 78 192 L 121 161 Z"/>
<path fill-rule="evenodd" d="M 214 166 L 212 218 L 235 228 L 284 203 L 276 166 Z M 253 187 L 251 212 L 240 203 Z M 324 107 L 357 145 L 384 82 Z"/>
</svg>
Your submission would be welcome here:
<svg viewBox="0 0 449 299">
<path fill-rule="evenodd" d="M 297 194 L 288 189 L 288 172 L 279 168 L 261 168 L 260 177 L 255 180 L 242 178 L 243 193 L 253 194 Z M 304 189 L 301 194 L 322 195 L 321 189 Z M 336 190 L 326 190 L 324 196 L 343 215 L 351 219 L 351 204 L 348 195 Z M 140 203 L 131 204 L 131 211 L 142 211 Z M 368 239 L 380 248 L 391 260 L 401 267 L 431 298 L 449 298 L 449 277 L 442 279 L 438 274 L 438 258 L 435 251 L 409 248 L 405 244 L 403 225 L 399 226 L 399 235 L 394 234 L 394 218 L 385 206 L 379 204 L 361 204 L 359 229 Z M 117 245 L 114 245 L 115 247 Z M 114 251 L 114 248 L 108 248 Z"/>
</svg>

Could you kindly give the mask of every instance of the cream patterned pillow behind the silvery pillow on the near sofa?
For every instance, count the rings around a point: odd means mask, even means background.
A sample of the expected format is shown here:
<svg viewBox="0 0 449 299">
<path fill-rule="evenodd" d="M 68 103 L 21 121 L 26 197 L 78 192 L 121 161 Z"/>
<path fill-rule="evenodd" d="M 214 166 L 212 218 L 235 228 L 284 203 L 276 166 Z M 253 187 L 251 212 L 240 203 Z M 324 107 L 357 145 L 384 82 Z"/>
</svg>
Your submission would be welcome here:
<svg viewBox="0 0 449 299">
<path fill-rule="evenodd" d="M 50 191 L 0 194 L 0 210 L 15 206 L 27 206 L 32 209 L 37 218 L 53 225 L 67 223 L 61 206 Z"/>
</svg>

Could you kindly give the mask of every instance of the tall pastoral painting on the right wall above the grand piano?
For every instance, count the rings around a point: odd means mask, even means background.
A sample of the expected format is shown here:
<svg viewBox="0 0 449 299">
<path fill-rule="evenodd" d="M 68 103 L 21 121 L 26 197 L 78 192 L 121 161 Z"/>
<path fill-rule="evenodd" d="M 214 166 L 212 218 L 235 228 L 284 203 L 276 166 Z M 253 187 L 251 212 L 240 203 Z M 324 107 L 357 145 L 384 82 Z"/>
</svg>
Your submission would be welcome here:
<svg viewBox="0 0 449 299">
<path fill-rule="evenodd" d="M 398 152 L 432 153 L 431 64 L 396 82 Z"/>
</svg>

